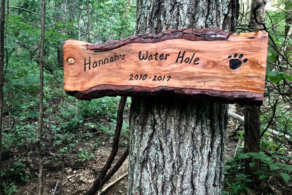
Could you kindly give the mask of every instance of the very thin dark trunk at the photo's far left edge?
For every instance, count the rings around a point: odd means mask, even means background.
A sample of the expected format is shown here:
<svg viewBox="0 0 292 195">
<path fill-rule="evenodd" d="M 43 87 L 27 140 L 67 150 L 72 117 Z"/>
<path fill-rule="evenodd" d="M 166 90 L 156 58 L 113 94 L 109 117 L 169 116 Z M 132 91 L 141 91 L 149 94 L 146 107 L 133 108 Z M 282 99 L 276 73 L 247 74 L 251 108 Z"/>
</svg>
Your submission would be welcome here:
<svg viewBox="0 0 292 195">
<path fill-rule="evenodd" d="M 5 0 L 1 0 L 0 16 L 0 173 L 2 171 L 2 114 L 3 114 L 3 70 L 4 70 L 4 24 Z M 2 176 L 0 176 L 0 194 L 2 192 Z"/>
</svg>

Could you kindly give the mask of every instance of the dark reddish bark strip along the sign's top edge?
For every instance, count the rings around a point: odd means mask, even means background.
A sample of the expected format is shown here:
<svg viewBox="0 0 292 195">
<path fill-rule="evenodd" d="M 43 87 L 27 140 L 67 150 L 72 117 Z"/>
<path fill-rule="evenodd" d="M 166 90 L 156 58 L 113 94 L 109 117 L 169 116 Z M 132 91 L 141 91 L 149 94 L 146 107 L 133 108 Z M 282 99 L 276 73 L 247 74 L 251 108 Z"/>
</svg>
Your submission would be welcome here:
<svg viewBox="0 0 292 195">
<path fill-rule="evenodd" d="M 186 29 L 179 28 L 173 30 L 166 30 L 160 34 L 143 34 L 132 35 L 121 40 L 109 40 L 100 44 L 86 44 L 88 50 L 94 52 L 104 52 L 117 49 L 119 47 L 128 45 L 130 43 L 156 43 L 170 39 L 185 39 L 185 40 L 227 40 L 231 32 L 225 32 L 221 29 Z"/>
</svg>

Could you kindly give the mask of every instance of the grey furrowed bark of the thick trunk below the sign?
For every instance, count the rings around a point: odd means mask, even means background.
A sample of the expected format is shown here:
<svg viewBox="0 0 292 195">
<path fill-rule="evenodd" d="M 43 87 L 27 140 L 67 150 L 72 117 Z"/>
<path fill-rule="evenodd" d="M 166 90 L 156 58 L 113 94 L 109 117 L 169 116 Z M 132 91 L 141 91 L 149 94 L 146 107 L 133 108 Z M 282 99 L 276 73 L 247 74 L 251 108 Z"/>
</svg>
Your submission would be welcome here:
<svg viewBox="0 0 292 195">
<path fill-rule="evenodd" d="M 226 108 L 204 100 L 133 98 L 128 195 L 219 195 Z"/>
</svg>

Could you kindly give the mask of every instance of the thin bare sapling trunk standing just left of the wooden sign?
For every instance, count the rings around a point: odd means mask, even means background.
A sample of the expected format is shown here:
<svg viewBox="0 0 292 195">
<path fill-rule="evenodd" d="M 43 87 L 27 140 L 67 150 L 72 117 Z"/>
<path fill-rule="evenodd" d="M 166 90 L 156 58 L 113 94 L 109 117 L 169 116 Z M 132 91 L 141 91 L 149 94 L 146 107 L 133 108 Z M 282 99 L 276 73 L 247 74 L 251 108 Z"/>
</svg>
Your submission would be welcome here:
<svg viewBox="0 0 292 195">
<path fill-rule="evenodd" d="M 46 11 L 46 3 L 45 0 L 40 1 L 40 26 L 41 26 L 41 34 L 40 34 L 40 49 L 39 49 L 39 121 L 38 121 L 38 130 L 36 137 L 36 151 L 37 158 L 39 164 L 39 175 L 38 175 L 38 195 L 43 194 L 43 162 L 42 156 L 40 152 L 40 141 L 41 141 L 41 133 L 42 133 L 42 125 L 43 125 L 43 97 L 44 97 L 44 72 L 43 72 L 43 53 L 44 53 L 44 42 L 45 42 L 45 11 Z"/>
</svg>

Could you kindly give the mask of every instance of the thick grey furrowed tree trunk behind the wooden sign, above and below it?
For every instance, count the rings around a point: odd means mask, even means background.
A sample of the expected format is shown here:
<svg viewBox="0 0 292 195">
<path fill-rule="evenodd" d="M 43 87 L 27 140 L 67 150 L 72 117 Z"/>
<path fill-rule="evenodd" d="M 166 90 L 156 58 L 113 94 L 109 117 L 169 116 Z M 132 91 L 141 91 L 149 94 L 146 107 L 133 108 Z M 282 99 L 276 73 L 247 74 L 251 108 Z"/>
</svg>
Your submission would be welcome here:
<svg viewBox="0 0 292 195">
<path fill-rule="evenodd" d="M 235 0 L 138 0 L 134 34 L 235 31 L 238 11 Z M 221 194 L 227 119 L 227 105 L 202 99 L 132 98 L 127 194 Z"/>
</svg>

